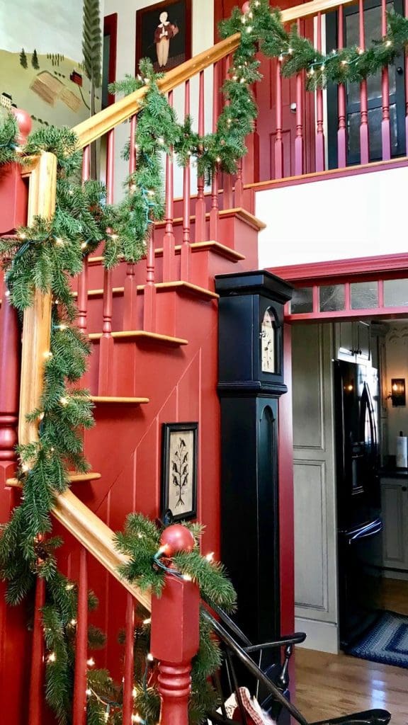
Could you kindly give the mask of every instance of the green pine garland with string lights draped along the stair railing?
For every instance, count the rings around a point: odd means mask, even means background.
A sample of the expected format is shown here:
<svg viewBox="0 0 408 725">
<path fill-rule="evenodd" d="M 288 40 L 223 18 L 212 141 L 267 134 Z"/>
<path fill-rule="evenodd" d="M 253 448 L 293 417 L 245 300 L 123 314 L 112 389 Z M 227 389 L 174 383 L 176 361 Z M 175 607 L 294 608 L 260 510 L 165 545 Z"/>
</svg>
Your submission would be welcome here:
<svg viewBox="0 0 408 725">
<path fill-rule="evenodd" d="M 30 228 L 21 228 L 17 239 L 0 239 L 0 260 L 6 272 L 10 302 L 23 312 L 32 304 L 36 289 L 51 293 L 55 305 L 49 354 L 44 365 L 44 393 L 38 410 L 30 413 L 38 421 L 38 442 L 20 446 L 18 476 L 23 483 L 20 505 L 11 520 L 2 526 L 0 539 L 1 578 L 7 581 L 7 602 L 17 604 L 33 590 L 37 576 L 46 584 L 44 637 L 46 642 L 46 699 L 61 725 L 69 721 L 73 689 L 74 634 L 77 590 L 57 569 L 55 550 L 60 540 L 50 537 L 54 492 L 69 484 L 68 470 L 86 471 L 83 445 L 78 428 L 93 424 L 89 394 L 76 387 L 86 369 L 88 341 L 76 327 L 76 305 L 70 279 L 82 269 L 83 257 L 105 240 L 105 265 L 112 268 L 119 260 L 137 262 L 145 253 L 150 226 L 163 218 L 163 178 L 161 154 L 174 153 L 181 166 L 192 160 L 199 176 L 208 181 L 220 168 L 234 173 L 238 159 L 246 152 L 245 136 L 256 119 L 256 104 L 250 85 L 260 80 L 256 52 L 278 57 L 282 74 L 306 72 L 310 90 L 327 83 L 361 82 L 389 65 L 408 44 L 408 20 L 388 14 L 387 33 L 381 41 L 362 51 L 358 47 L 323 55 L 312 43 L 289 32 L 282 25 L 280 12 L 271 10 L 268 0 L 253 0 L 247 14 L 234 9 L 229 20 L 221 22 L 221 36 L 240 32 L 240 46 L 234 53 L 229 78 L 224 82 L 224 104 L 215 133 L 200 137 L 192 130 L 192 119 L 178 123 L 174 109 L 160 93 L 152 64 L 144 59 L 138 78 L 127 77 L 110 90 L 124 94 L 147 85 L 135 138 L 136 172 L 126 179 L 126 194 L 118 204 L 107 205 L 105 188 L 97 181 L 81 184 L 82 154 L 75 134 L 48 127 L 30 135 L 24 150 L 18 147 L 15 117 L 7 115 L 0 124 L 0 166 L 25 163 L 30 155 L 49 151 L 57 157 L 57 207 L 52 220 L 37 218 Z M 124 151 L 128 157 L 130 146 Z M 139 534 L 143 534 L 140 538 Z M 197 531 L 195 531 L 197 534 Z M 163 571 L 152 560 L 158 549 L 160 532 L 138 515 L 128 518 L 126 529 L 118 534 L 118 547 L 131 555 L 122 574 L 140 587 L 160 593 Z M 174 563 L 200 585 L 205 600 L 228 606 L 234 594 L 222 569 L 200 557 L 197 548 L 178 554 Z M 94 596 L 89 596 L 93 606 Z M 219 666 L 219 652 L 205 624 L 201 624 L 200 653 L 193 669 L 192 722 L 200 721 L 212 705 L 213 692 L 205 678 Z M 139 632 L 139 634 L 137 634 Z M 89 646 L 102 645 L 104 637 L 89 628 Z M 136 631 L 136 704 L 148 722 L 157 721 L 159 699 L 155 687 L 147 687 L 140 667 L 148 649 L 146 626 Z M 139 668 L 139 670 L 138 670 Z M 89 670 L 88 722 L 115 725 L 121 718 L 121 689 L 103 670 Z"/>
</svg>

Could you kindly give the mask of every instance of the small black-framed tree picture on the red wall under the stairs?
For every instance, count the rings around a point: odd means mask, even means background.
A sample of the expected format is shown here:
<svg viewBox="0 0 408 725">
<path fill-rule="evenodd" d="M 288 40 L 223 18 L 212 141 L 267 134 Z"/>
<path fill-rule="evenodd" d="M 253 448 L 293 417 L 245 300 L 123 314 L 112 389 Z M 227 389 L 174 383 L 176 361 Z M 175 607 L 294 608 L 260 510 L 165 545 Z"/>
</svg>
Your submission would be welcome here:
<svg viewBox="0 0 408 725">
<path fill-rule="evenodd" d="M 162 516 L 171 510 L 173 521 L 197 516 L 197 440 L 198 423 L 163 423 Z"/>
</svg>

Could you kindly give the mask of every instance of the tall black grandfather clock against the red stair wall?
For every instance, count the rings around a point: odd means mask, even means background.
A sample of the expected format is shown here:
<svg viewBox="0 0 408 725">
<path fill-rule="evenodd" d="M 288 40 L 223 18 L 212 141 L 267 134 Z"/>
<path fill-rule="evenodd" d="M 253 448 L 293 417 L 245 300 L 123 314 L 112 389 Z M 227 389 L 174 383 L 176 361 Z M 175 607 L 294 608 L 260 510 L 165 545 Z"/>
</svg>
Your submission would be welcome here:
<svg viewBox="0 0 408 725">
<path fill-rule="evenodd" d="M 280 634 L 278 402 L 283 308 L 293 288 L 261 270 L 216 276 L 221 401 L 221 559 L 252 642 Z"/>
</svg>

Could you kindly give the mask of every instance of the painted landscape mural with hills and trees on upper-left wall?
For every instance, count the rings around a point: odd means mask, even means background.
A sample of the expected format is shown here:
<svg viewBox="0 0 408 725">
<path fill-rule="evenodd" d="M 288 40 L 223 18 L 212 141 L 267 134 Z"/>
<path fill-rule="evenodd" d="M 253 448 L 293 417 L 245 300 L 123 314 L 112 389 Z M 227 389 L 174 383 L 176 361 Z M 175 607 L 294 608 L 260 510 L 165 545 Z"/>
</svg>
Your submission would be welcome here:
<svg viewBox="0 0 408 725">
<path fill-rule="evenodd" d="M 102 18 L 99 0 L 0 0 L 0 105 L 28 111 L 33 128 L 73 126 L 92 87 L 98 110 Z"/>
</svg>

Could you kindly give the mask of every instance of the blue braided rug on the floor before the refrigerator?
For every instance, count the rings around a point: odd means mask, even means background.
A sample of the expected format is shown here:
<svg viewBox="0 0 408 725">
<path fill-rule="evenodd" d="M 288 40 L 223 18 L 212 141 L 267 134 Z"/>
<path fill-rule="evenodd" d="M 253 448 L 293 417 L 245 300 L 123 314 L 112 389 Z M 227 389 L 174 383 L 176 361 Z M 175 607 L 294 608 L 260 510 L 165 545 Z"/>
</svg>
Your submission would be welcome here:
<svg viewBox="0 0 408 725">
<path fill-rule="evenodd" d="M 385 611 L 371 629 L 347 650 L 348 655 L 408 668 L 408 617 Z"/>
</svg>

